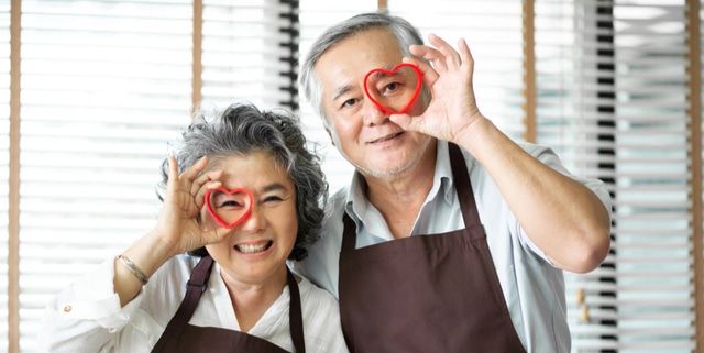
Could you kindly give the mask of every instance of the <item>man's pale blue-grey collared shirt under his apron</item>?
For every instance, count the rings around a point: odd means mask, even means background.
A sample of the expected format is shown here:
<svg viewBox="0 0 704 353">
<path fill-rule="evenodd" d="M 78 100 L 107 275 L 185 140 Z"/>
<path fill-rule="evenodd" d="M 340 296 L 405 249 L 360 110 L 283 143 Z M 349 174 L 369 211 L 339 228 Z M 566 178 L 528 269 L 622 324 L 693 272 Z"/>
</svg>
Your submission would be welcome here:
<svg viewBox="0 0 704 353">
<path fill-rule="evenodd" d="M 534 144 L 521 144 L 521 147 L 546 165 L 586 185 L 600 197 L 606 209 L 610 210 L 610 196 L 604 183 L 571 176 L 550 148 Z M 546 254 L 528 239 L 486 170 L 465 151 L 462 153 L 470 170 L 475 202 L 496 273 L 521 343 L 528 352 L 569 352 L 571 339 L 562 271 L 552 266 Z M 355 173 L 351 185 L 331 197 L 331 210 L 323 228 L 323 238 L 309 249 L 307 258 L 294 266 L 296 272 L 330 290 L 336 297 L 343 231 L 342 212 L 346 211 L 356 223 L 358 249 L 394 239 L 381 212 L 364 197 L 361 178 Z M 440 141 L 433 185 L 410 235 L 437 234 L 463 228 L 448 143 Z"/>
</svg>

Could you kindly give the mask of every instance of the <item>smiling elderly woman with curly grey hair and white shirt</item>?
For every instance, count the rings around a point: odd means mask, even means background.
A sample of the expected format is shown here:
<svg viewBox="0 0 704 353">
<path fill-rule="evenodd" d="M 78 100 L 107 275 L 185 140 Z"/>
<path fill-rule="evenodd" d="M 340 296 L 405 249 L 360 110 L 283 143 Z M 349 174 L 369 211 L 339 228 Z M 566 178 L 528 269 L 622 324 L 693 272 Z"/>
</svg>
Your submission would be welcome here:
<svg viewBox="0 0 704 353">
<path fill-rule="evenodd" d="M 154 229 L 48 304 L 42 352 L 346 352 L 337 300 L 292 274 L 328 186 L 299 122 L 196 114 L 163 164 Z"/>
</svg>

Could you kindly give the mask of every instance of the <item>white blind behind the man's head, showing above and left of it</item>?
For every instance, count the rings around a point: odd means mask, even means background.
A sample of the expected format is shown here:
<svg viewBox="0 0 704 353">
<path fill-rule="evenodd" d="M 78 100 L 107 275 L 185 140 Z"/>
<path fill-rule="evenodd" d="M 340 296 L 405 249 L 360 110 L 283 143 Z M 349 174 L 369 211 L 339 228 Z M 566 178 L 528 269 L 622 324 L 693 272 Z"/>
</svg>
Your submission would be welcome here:
<svg viewBox="0 0 704 353">
<path fill-rule="evenodd" d="M 304 58 L 308 48 L 320 33 L 330 25 L 350 18 L 359 12 L 376 10 L 377 1 L 300 1 L 300 45 L 299 55 Z M 330 184 L 330 194 L 346 186 L 352 177 L 354 168 L 342 157 L 338 150 L 330 143 L 330 136 L 322 128 L 322 122 L 312 110 L 310 103 L 300 97 L 300 117 L 305 124 L 306 136 L 316 145 L 323 157 L 322 170 Z"/>
</svg>

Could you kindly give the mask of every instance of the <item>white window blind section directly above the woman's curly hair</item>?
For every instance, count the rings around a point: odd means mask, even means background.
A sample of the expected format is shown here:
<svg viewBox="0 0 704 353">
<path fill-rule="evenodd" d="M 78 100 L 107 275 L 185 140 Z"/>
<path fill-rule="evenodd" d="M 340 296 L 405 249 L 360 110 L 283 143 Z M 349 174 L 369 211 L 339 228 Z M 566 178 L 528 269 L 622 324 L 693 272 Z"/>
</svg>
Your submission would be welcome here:
<svg viewBox="0 0 704 353">
<path fill-rule="evenodd" d="M 284 62 L 290 41 L 279 29 L 290 5 L 279 0 L 205 0 L 202 40 L 204 102 L 229 104 L 246 100 L 260 108 L 282 107 L 292 92 Z"/>
</svg>

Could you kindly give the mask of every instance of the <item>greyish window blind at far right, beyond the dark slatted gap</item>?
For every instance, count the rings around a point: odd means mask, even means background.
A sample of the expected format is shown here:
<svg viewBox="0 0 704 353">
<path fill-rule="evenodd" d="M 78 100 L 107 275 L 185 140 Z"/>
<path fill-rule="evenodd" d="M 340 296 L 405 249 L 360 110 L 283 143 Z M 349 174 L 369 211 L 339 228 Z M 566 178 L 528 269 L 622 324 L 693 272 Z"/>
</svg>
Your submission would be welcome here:
<svg viewBox="0 0 704 353">
<path fill-rule="evenodd" d="M 620 352 L 690 352 L 685 4 L 615 1 L 616 275 Z"/>
</svg>

